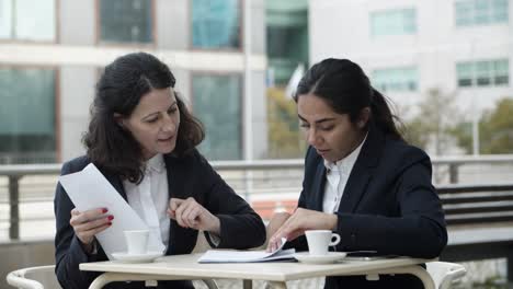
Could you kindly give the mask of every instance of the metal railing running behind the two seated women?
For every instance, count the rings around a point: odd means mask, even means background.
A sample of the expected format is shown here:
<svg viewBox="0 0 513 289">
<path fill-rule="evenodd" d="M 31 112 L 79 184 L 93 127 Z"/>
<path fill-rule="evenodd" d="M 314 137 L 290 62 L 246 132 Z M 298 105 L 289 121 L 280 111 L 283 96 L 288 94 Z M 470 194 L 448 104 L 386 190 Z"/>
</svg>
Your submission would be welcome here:
<svg viewBox="0 0 513 289">
<path fill-rule="evenodd" d="M 433 158 L 437 185 L 513 184 L 513 154 Z M 296 200 L 301 188 L 303 160 L 210 162 L 214 169 L 252 205 L 273 211 L 280 200 Z M 9 239 L 20 239 L 22 221 L 41 221 L 48 216 L 21 216 L 21 205 L 50 203 L 60 164 L 0 165 L 0 224 L 9 227 Z M 273 201 L 269 201 L 273 200 Z M 287 205 L 290 206 L 290 205 Z M 255 208 L 256 209 L 256 208 Z M 2 230 L 2 227 L 0 227 Z"/>
</svg>

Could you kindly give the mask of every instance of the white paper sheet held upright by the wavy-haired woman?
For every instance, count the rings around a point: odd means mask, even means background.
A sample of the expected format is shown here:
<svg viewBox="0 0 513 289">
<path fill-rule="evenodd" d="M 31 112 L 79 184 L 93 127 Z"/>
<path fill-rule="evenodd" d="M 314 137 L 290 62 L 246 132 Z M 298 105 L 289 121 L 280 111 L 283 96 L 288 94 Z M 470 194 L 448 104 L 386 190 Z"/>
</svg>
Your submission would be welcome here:
<svg viewBox="0 0 513 289">
<path fill-rule="evenodd" d="M 106 215 L 114 216 L 112 226 L 96 234 L 96 239 L 107 254 L 109 259 L 114 259 L 112 253 L 126 252 L 123 231 L 148 230 L 148 226 L 94 164 L 89 164 L 80 172 L 61 175 L 59 182 L 78 210 L 107 208 Z M 163 252 L 166 246 L 157 239 L 149 239 L 148 251 Z"/>
</svg>

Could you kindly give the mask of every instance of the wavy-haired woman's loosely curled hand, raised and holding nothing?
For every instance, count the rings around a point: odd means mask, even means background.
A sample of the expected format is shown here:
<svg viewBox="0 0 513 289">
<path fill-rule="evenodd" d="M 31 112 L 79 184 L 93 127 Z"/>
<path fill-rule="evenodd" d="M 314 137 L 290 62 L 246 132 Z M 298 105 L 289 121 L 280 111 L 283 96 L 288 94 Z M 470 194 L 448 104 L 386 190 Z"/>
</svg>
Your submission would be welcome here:
<svg viewBox="0 0 513 289">
<path fill-rule="evenodd" d="M 219 218 L 212 215 L 192 197 L 186 199 L 171 198 L 168 215 L 183 228 L 220 234 Z"/>
</svg>

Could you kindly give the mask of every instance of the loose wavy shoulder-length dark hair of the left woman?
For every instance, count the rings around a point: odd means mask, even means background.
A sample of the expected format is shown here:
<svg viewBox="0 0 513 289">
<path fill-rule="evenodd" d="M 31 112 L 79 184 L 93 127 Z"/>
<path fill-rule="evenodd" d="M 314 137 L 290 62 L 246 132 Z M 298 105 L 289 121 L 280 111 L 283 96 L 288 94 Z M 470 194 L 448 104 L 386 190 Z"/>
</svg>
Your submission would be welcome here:
<svg viewBox="0 0 513 289">
<path fill-rule="evenodd" d="M 96 166 L 122 180 L 140 182 L 142 149 L 133 135 L 122 128 L 114 114 L 129 117 L 142 95 L 152 90 L 174 88 L 176 80 L 169 67 L 146 53 L 118 57 L 105 67 L 91 105 L 91 122 L 83 136 L 87 155 Z M 202 124 L 176 95 L 180 127 L 173 154 L 189 153 L 205 137 Z"/>
</svg>

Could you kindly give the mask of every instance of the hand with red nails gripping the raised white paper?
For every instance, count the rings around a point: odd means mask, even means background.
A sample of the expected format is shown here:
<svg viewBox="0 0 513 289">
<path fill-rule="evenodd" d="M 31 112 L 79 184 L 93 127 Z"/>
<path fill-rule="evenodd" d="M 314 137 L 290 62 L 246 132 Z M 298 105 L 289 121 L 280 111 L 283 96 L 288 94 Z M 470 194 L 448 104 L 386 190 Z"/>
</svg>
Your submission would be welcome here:
<svg viewBox="0 0 513 289">
<path fill-rule="evenodd" d="M 98 208 L 87 211 L 71 210 L 69 224 L 73 228 L 75 234 L 86 247 L 92 245 L 94 235 L 112 226 L 114 216 L 105 215 L 106 208 Z"/>
</svg>

